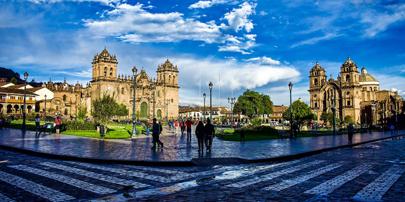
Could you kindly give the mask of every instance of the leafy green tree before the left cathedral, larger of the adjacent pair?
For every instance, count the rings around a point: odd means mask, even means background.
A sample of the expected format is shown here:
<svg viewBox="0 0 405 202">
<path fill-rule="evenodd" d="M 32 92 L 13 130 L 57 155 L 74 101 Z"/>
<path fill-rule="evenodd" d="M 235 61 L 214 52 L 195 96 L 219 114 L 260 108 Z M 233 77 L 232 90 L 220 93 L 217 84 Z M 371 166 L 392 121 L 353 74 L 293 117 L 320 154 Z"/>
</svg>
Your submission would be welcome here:
<svg viewBox="0 0 405 202">
<path fill-rule="evenodd" d="M 107 126 L 108 121 L 115 116 L 115 109 L 118 104 L 110 95 L 103 95 L 103 98 L 97 97 L 92 100 L 91 115 L 97 119 L 100 124 Z"/>
</svg>

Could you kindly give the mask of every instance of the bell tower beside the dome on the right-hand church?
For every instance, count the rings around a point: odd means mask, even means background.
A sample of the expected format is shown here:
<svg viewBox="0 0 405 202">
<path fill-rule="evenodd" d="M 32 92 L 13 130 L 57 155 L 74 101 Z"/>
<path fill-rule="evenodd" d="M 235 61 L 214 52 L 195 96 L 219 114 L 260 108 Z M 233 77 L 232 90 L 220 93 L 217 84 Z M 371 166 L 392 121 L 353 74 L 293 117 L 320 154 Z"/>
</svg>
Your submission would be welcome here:
<svg viewBox="0 0 405 202">
<path fill-rule="evenodd" d="M 347 61 L 340 67 L 342 86 L 358 85 L 358 67 L 347 57 Z"/>
</svg>

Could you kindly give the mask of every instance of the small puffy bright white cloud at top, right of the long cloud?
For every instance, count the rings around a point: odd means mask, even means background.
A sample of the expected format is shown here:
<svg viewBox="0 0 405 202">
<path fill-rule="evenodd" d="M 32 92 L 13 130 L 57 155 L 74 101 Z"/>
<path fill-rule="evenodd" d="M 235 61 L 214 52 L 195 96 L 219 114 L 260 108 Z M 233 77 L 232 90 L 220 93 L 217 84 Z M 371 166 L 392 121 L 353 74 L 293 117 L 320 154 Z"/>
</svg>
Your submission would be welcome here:
<svg viewBox="0 0 405 202">
<path fill-rule="evenodd" d="M 256 6 L 257 4 L 245 2 L 239 5 L 240 8 L 232 9 L 220 19 L 228 21 L 228 26 L 222 26 L 222 28 L 230 28 L 236 32 L 245 29 L 246 32 L 250 32 L 253 29 L 253 23 L 248 17 L 255 13 Z"/>
</svg>

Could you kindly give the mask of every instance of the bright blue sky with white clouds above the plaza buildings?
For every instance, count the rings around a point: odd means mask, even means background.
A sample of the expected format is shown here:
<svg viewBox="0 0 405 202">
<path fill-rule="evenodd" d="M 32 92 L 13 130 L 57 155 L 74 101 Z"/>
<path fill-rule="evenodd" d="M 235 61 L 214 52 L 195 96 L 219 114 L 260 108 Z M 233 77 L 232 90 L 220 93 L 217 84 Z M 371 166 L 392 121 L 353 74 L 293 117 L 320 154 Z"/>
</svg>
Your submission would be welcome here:
<svg viewBox="0 0 405 202">
<path fill-rule="evenodd" d="M 180 105 L 213 102 L 246 88 L 275 105 L 309 101 L 308 74 L 318 61 L 336 79 L 350 55 L 381 89 L 405 94 L 404 1 L 0 1 L 0 66 L 29 80 L 86 84 L 107 47 L 118 73 L 144 67 L 154 77 L 167 58 L 179 68 Z M 199 95 L 201 75 L 201 95 Z"/>
</svg>

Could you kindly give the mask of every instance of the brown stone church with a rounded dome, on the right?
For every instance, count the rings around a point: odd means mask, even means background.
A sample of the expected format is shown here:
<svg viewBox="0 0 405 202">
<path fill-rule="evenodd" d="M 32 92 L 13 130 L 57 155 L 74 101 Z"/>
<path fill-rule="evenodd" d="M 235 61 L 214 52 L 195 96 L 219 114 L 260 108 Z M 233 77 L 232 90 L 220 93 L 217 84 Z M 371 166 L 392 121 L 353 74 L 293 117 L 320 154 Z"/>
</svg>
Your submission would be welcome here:
<svg viewBox="0 0 405 202">
<path fill-rule="evenodd" d="M 329 79 L 325 69 L 318 62 L 309 72 L 310 108 L 317 115 L 332 112 L 340 120 L 350 115 L 355 123 L 394 124 L 401 123 L 404 100 L 398 92 L 380 90 L 380 82 L 347 58 L 340 67 L 337 79 Z"/>
</svg>

